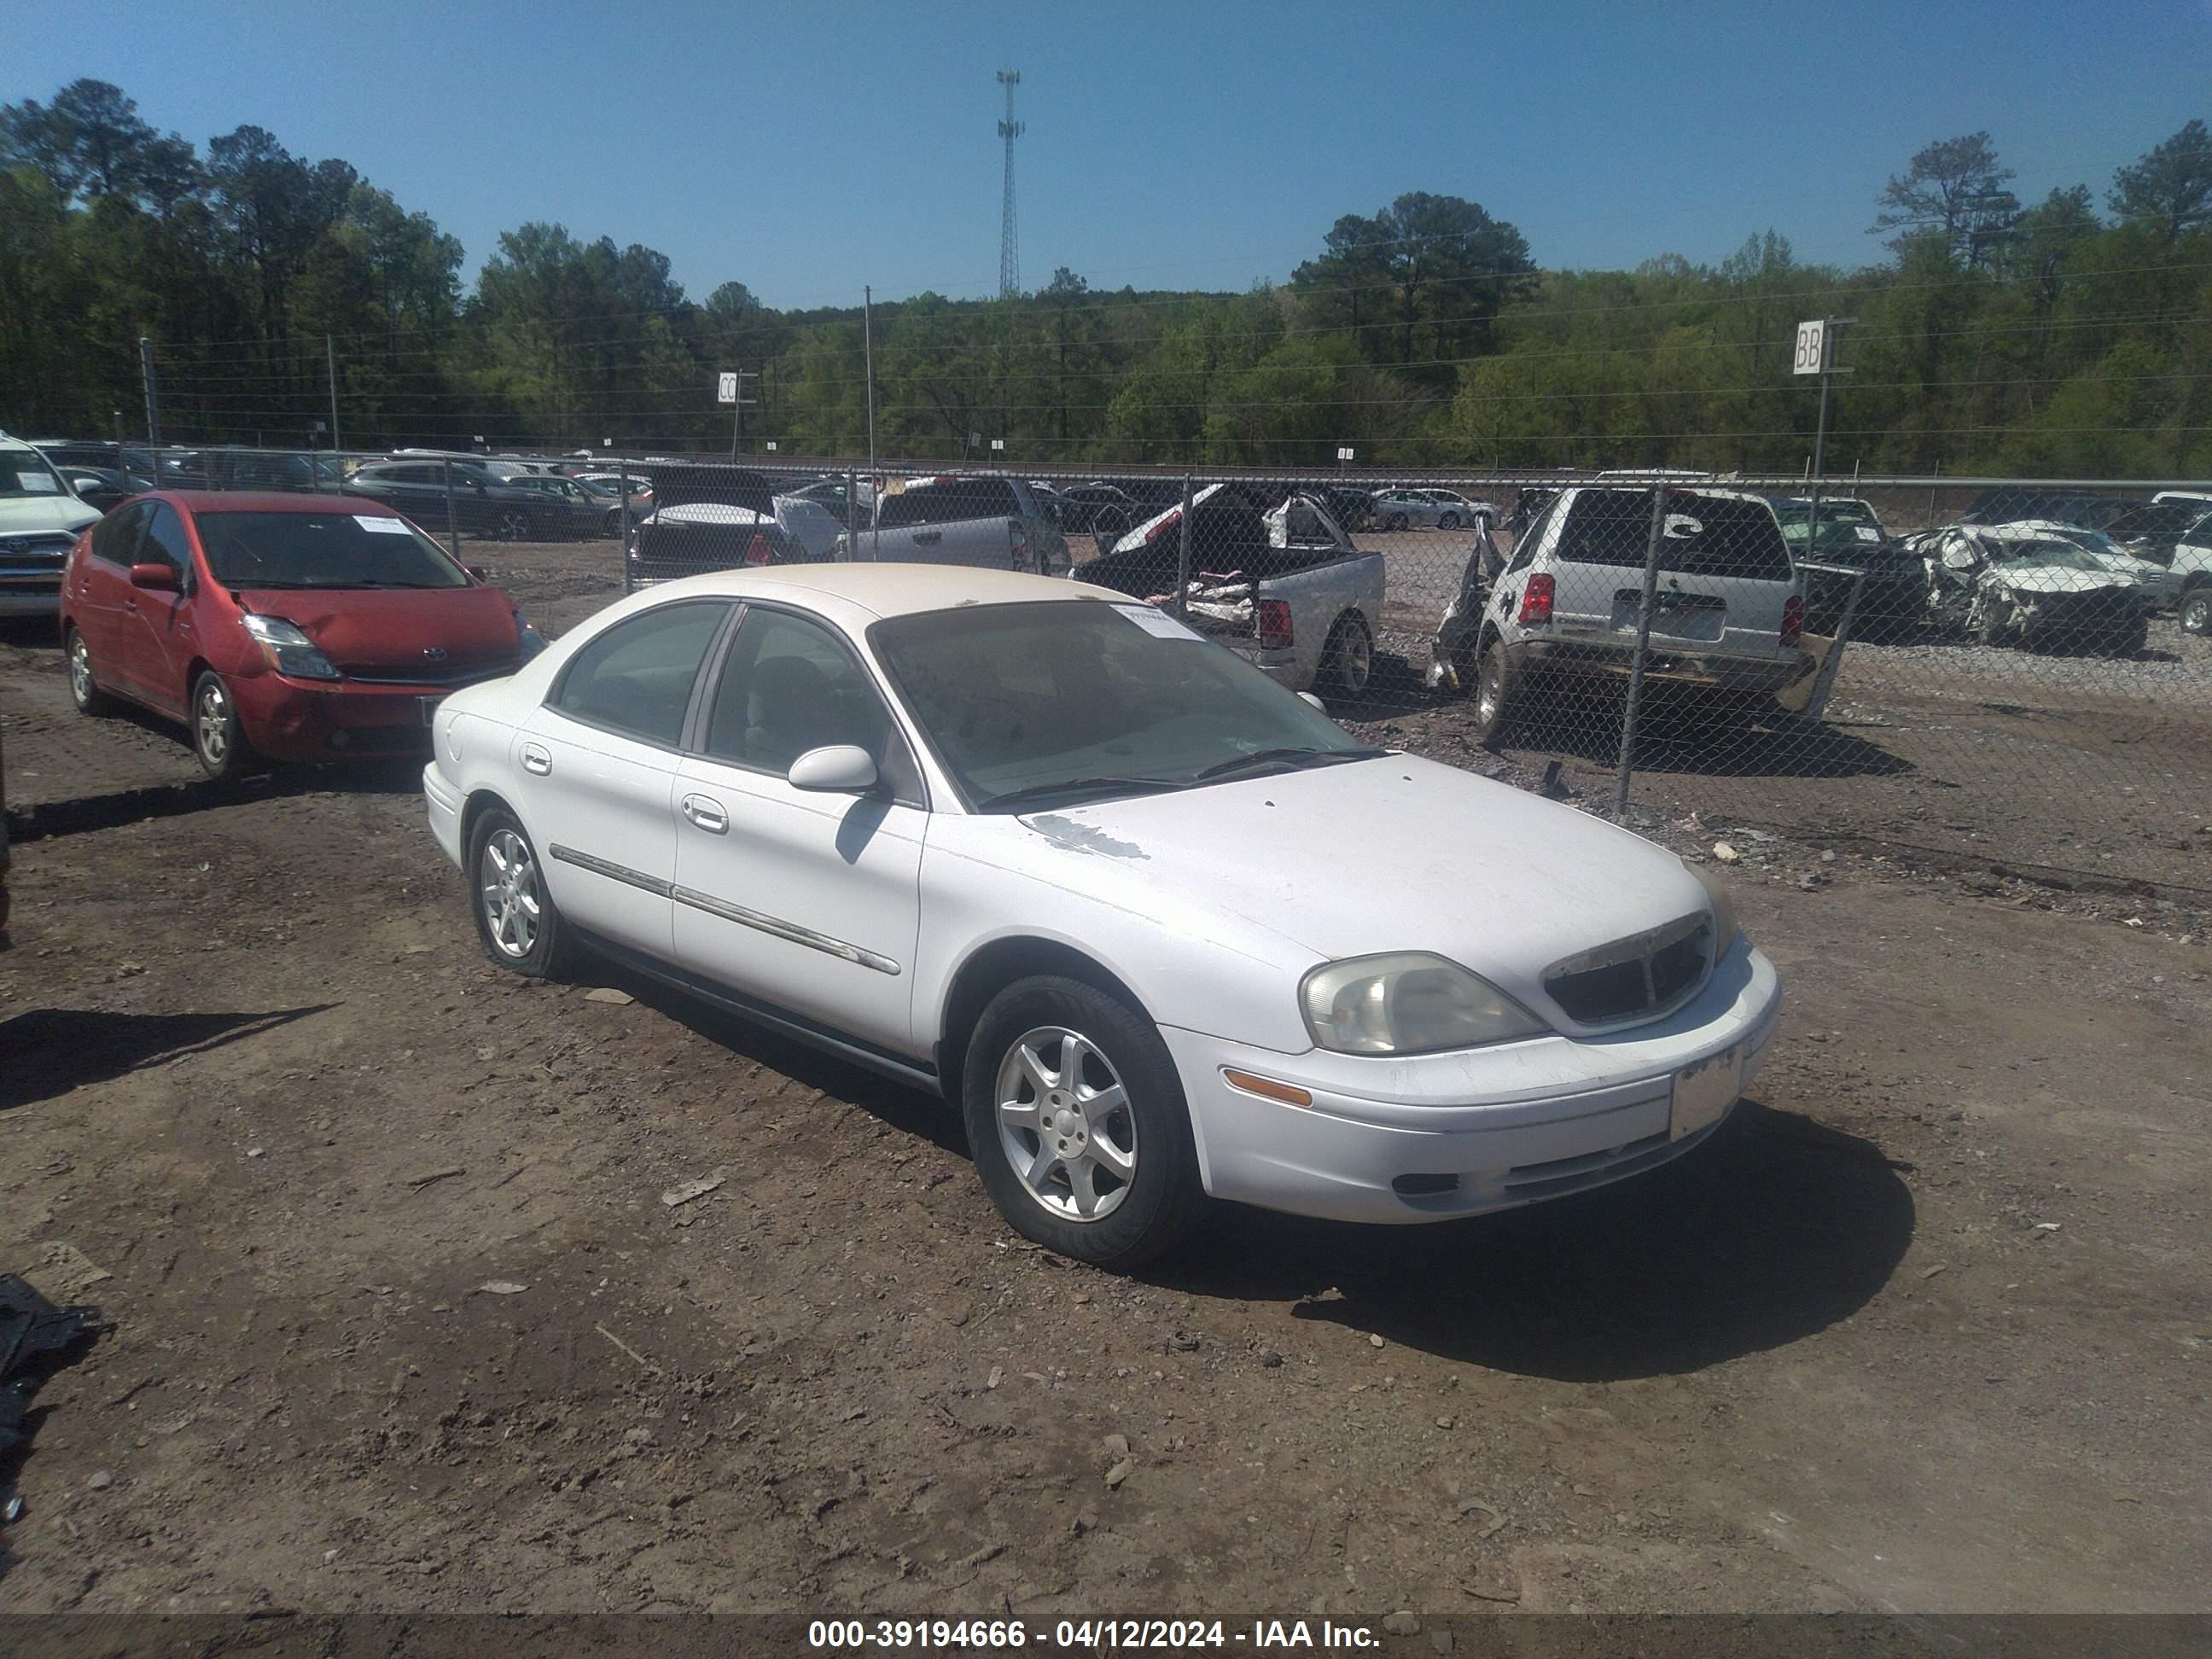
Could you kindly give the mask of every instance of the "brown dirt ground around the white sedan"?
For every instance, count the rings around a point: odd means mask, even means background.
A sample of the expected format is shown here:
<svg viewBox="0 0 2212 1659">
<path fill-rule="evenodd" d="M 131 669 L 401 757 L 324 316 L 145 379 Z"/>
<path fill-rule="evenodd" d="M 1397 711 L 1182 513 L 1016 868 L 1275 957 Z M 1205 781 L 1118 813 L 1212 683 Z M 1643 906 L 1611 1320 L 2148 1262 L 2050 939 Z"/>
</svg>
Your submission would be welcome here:
<svg viewBox="0 0 2212 1659">
<path fill-rule="evenodd" d="M 491 562 L 549 628 L 615 591 Z M 0 1267 L 115 1321 L 0 1469 L 0 1606 L 2208 1608 L 2185 889 L 1639 794 L 1787 978 L 1705 1150 L 1444 1228 L 1223 1210 L 1117 1279 L 1015 1241 L 938 1102 L 495 971 L 407 770 L 195 783 L 24 628 L 0 721 Z"/>
</svg>

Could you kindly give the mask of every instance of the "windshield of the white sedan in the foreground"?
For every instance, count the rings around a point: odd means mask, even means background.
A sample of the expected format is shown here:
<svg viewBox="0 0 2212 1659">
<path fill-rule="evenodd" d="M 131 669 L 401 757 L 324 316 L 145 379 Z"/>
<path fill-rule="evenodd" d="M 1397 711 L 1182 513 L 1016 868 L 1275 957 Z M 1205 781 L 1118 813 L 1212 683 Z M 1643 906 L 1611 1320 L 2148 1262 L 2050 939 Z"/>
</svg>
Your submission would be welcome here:
<svg viewBox="0 0 2212 1659">
<path fill-rule="evenodd" d="M 869 639 L 984 812 L 1380 752 L 1148 604 L 925 611 L 878 622 Z"/>
</svg>

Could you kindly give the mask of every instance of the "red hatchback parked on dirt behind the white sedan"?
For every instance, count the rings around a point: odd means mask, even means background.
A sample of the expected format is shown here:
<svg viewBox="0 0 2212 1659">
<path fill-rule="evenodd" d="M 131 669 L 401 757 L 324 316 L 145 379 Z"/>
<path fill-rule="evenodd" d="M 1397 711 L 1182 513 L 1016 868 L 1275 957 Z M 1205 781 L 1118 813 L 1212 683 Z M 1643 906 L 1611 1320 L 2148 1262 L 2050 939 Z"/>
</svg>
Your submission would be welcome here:
<svg viewBox="0 0 2212 1659">
<path fill-rule="evenodd" d="M 438 699 L 544 639 L 513 599 L 383 502 L 155 491 L 62 573 L 69 692 L 181 719 L 208 776 L 429 748 Z"/>
</svg>

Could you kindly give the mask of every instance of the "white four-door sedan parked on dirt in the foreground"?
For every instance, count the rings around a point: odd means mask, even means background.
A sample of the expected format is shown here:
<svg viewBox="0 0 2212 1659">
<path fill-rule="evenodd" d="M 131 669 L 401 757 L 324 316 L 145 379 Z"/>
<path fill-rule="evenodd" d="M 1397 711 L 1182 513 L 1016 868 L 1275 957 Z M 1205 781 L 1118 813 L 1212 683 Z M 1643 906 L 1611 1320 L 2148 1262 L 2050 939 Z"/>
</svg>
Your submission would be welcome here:
<svg viewBox="0 0 2212 1659">
<path fill-rule="evenodd" d="M 1781 1006 L 1672 854 L 1082 582 L 670 582 L 434 741 L 493 962 L 588 947 L 940 1093 L 1006 1221 L 1093 1263 L 1208 1197 L 1438 1221 L 1648 1170 Z"/>
</svg>

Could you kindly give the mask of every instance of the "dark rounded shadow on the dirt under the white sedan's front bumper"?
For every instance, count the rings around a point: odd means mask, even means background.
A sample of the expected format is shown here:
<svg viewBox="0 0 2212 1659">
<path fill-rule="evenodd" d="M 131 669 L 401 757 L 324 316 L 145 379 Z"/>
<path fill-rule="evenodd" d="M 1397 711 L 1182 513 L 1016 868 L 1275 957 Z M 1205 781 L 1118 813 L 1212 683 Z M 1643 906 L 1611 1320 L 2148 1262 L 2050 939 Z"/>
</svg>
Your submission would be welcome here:
<svg viewBox="0 0 2212 1659">
<path fill-rule="evenodd" d="M 1913 1237 L 1898 1168 L 1871 1141 L 1743 1102 L 1679 1164 L 1597 1192 L 1425 1228 L 1239 1208 L 1146 1276 L 1498 1371 L 1670 1376 L 1865 1307 Z"/>
</svg>

